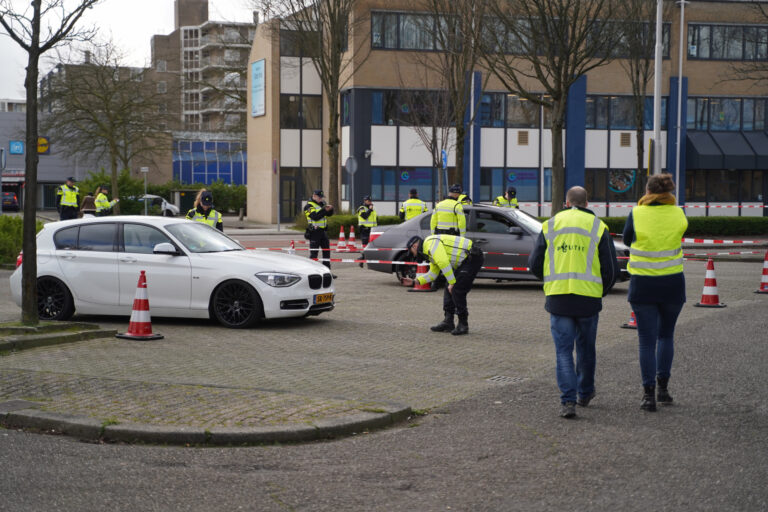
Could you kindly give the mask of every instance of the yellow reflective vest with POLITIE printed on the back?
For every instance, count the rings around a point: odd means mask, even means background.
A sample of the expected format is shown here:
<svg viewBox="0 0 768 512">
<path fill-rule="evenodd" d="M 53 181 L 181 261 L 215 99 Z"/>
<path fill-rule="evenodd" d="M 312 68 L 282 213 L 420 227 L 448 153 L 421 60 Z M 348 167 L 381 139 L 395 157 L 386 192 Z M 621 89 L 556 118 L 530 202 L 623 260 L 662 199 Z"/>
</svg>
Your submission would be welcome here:
<svg viewBox="0 0 768 512">
<path fill-rule="evenodd" d="M 565 210 L 542 225 L 547 241 L 544 293 L 603 296 L 597 248 L 607 226 L 578 208 Z"/>
</svg>

